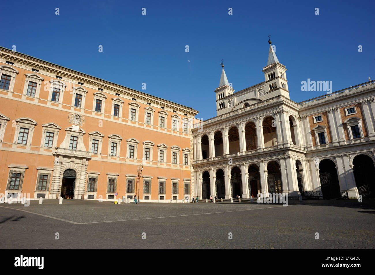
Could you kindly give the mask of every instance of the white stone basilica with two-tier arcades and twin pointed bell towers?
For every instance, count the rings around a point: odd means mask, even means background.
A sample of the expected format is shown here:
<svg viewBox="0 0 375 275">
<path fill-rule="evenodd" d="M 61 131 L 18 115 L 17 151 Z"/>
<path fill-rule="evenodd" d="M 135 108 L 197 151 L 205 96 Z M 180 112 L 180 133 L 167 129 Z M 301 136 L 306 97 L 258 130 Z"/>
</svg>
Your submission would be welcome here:
<svg viewBox="0 0 375 275">
<path fill-rule="evenodd" d="M 321 96 L 294 102 L 269 43 L 264 81 L 234 92 L 222 65 L 217 116 L 192 129 L 198 198 L 374 198 L 375 81 L 336 92 L 317 82 Z"/>
</svg>

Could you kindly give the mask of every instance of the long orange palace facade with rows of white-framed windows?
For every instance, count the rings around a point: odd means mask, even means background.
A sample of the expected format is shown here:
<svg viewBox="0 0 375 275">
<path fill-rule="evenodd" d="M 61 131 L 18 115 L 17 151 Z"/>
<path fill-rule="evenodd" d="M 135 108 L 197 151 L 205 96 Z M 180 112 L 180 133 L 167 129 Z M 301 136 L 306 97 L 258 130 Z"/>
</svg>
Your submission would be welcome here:
<svg viewBox="0 0 375 275">
<path fill-rule="evenodd" d="M 198 111 L 5 48 L 0 76 L 5 198 L 193 196 Z"/>
</svg>

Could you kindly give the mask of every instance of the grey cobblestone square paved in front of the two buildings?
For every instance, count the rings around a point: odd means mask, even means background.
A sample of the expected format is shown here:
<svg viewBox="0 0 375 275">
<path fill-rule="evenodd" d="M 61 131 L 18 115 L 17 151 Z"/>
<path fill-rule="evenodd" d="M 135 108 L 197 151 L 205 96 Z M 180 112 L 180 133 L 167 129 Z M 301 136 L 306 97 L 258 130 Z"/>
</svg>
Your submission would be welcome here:
<svg viewBox="0 0 375 275">
<path fill-rule="evenodd" d="M 0 247 L 375 248 L 374 209 L 371 200 L 290 201 L 288 207 L 87 200 L 1 204 Z"/>
</svg>

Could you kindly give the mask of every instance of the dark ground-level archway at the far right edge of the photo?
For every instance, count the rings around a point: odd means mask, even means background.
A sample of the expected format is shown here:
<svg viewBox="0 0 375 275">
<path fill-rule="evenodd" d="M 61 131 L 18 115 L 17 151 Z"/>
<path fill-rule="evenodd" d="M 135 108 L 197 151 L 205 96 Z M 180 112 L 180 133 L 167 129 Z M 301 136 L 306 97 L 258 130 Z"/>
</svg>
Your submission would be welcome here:
<svg viewBox="0 0 375 275">
<path fill-rule="evenodd" d="M 358 155 L 353 159 L 353 172 L 356 186 L 362 198 L 375 198 L 375 167 L 368 155 Z"/>
</svg>

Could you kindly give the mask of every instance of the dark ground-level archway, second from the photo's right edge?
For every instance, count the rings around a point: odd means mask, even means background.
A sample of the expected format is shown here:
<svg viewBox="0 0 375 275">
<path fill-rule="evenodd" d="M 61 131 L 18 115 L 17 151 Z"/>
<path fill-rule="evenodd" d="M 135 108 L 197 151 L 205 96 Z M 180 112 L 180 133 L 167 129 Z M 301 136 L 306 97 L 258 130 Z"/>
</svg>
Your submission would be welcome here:
<svg viewBox="0 0 375 275">
<path fill-rule="evenodd" d="M 319 177 L 324 199 L 341 197 L 335 162 L 330 159 L 321 161 L 319 163 Z"/>
</svg>

